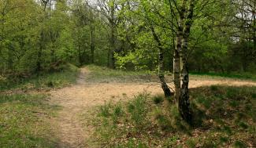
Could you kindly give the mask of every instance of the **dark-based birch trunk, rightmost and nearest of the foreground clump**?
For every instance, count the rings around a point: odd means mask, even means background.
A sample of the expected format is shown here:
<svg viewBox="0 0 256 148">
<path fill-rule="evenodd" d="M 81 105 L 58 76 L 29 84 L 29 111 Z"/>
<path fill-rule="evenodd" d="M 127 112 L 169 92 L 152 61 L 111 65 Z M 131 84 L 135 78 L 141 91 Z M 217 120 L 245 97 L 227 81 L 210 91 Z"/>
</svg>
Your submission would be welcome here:
<svg viewBox="0 0 256 148">
<path fill-rule="evenodd" d="M 189 83 L 189 75 L 188 75 L 188 66 L 187 66 L 187 46 L 188 46 L 188 38 L 190 35 L 192 19 L 193 19 L 193 10 L 195 0 L 190 1 L 190 6 L 188 9 L 188 15 L 184 27 L 184 38 L 182 40 L 182 50 L 180 56 L 180 68 L 181 74 L 180 78 L 182 81 L 181 91 L 180 91 L 180 98 L 179 98 L 179 111 L 181 117 L 184 118 L 187 123 L 192 123 L 192 114 L 190 109 L 190 101 L 189 101 L 189 91 L 188 91 L 188 83 Z"/>
</svg>

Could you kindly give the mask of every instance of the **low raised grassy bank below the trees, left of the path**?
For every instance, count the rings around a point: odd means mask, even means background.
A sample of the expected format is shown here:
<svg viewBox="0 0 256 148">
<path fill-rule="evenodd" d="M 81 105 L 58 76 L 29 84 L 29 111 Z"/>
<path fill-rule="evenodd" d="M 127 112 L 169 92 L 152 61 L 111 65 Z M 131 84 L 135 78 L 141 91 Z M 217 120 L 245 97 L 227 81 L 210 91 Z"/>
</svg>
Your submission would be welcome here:
<svg viewBox="0 0 256 148">
<path fill-rule="evenodd" d="M 78 68 L 71 65 L 63 65 L 61 70 L 52 73 L 41 73 L 30 78 L 23 79 L 0 79 L 0 91 L 20 88 L 20 89 L 41 89 L 41 88 L 61 88 L 76 81 Z"/>
</svg>

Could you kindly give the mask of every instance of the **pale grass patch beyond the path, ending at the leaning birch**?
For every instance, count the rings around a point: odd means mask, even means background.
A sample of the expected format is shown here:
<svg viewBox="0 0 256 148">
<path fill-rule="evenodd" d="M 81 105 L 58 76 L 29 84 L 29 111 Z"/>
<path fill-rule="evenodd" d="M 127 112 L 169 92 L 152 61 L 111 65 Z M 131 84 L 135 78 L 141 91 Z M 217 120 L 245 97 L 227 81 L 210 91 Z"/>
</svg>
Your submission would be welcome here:
<svg viewBox="0 0 256 148">
<path fill-rule="evenodd" d="M 152 81 L 152 75 L 154 75 L 154 72 L 149 71 L 112 70 L 95 65 L 88 65 L 87 68 L 91 70 L 87 81 L 94 82 Z"/>
</svg>

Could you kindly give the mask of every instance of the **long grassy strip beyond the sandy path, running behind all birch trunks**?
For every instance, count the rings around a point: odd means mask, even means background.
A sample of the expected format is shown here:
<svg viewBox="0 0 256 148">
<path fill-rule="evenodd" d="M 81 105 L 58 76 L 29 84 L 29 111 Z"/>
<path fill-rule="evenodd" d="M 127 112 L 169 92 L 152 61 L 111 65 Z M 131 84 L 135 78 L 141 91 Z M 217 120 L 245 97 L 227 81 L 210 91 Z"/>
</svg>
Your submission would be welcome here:
<svg viewBox="0 0 256 148">
<path fill-rule="evenodd" d="M 157 72 L 155 71 L 131 71 L 131 70 L 112 70 L 107 67 L 88 65 L 91 74 L 87 81 L 91 82 L 158 82 Z M 166 81 L 173 81 L 173 74 L 166 71 Z M 191 72 L 191 79 L 225 79 L 256 81 L 256 74 L 217 74 L 217 73 L 195 73 Z"/>
</svg>

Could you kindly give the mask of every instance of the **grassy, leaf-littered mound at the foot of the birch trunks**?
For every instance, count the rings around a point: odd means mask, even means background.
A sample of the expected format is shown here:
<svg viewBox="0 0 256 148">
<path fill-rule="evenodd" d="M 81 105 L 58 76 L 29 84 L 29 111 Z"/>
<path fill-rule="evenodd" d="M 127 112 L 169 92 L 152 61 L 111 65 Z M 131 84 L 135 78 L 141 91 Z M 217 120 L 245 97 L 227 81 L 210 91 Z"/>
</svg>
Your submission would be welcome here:
<svg viewBox="0 0 256 148">
<path fill-rule="evenodd" d="M 213 85 L 191 89 L 194 126 L 163 96 L 143 93 L 106 103 L 91 122 L 105 147 L 255 147 L 256 88 Z M 93 137 L 93 139 L 95 139 Z"/>
</svg>

